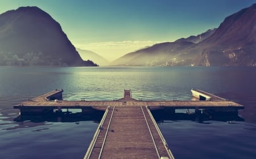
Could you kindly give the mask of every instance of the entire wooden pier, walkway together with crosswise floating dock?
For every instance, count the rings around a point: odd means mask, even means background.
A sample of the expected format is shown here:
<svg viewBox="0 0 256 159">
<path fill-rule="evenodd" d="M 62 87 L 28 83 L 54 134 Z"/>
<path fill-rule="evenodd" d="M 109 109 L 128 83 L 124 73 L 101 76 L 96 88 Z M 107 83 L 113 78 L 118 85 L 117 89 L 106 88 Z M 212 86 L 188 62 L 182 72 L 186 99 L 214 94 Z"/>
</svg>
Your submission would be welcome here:
<svg viewBox="0 0 256 159">
<path fill-rule="evenodd" d="M 20 114 L 50 113 L 61 109 L 104 110 L 84 158 L 174 158 L 151 111 L 168 109 L 195 109 L 238 113 L 243 106 L 213 94 L 193 90 L 197 101 L 140 101 L 125 90 L 123 98 L 114 101 L 65 101 L 63 90 L 43 94 L 15 105 Z M 204 101 L 202 101 L 204 100 Z M 150 111 L 151 110 L 151 111 Z"/>
</svg>

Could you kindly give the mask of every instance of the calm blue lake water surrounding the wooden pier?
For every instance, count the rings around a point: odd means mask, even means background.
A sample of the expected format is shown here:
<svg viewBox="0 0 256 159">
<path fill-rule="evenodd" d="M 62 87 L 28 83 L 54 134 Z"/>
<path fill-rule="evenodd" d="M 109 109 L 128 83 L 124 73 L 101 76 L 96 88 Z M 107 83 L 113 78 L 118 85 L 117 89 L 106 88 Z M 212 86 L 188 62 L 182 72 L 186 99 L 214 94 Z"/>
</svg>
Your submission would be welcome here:
<svg viewBox="0 0 256 159">
<path fill-rule="evenodd" d="M 245 105 L 237 118 L 165 117 L 160 130 L 176 159 L 256 157 L 255 67 L 0 67 L 1 158 L 84 157 L 102 114 L 17 121 L 13 105 L 61 88 L 64 100 L 113 100 L 123 89 L 139 100 L 191 100 L 191 88 L 229 98 Z"/>
</svg>

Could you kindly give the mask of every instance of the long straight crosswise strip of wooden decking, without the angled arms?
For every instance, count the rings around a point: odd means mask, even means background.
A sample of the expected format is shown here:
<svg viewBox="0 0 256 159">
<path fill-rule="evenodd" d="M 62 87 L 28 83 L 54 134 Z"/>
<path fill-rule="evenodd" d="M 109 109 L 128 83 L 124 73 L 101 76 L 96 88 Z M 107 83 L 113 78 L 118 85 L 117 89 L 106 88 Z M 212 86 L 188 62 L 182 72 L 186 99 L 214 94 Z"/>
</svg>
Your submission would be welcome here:
<svg viewBox="0 0 256 159">
<path fill-rule="evenodd" d="M 22 104 L 15 105 L 15 109 L 22 108 L 43 108 L 51 107 L 57 108 L 61 106 L 62 108 L 69 109 L 80 109 L 82 107 L 104 107 L 106 106 L 150 106 L 150 107 L 173 107 L 175 109 L 187 109 L 187 108 L 210 108 L 210 107 L 228 107 L 233 106 L 233 108 L 243 109 L 243 106 L 237 104 L 233 101 L 26 101 Z"/>
</svg>

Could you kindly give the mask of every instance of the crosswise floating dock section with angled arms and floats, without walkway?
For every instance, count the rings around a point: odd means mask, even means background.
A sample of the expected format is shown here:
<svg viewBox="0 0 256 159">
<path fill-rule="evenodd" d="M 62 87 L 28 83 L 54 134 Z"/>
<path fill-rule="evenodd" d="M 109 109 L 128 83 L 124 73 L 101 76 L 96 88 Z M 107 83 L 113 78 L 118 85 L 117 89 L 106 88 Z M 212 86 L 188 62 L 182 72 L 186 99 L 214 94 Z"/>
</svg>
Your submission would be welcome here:
<svg viewBox="0 0 256 159">
<path fill-rule="evenodd" d="M 14 109 L 20 109 L 20 113 L 48 113 L 61 109 L 98 109 L 106 110 L 107 106 L 148 106 L 150 110 L 171 108 L 175 109 L 218 109 L 222 111 L 237 111 L 243 106 L 236 102 L 225 100 L 213 94 L 192 90 L 192 95 L 197 97 L 197 101 L 141 101 L 132 98 L 131 91 L 125 90 L 123 98 L 113 101 L 66 101 L 62 99 L 63 90 L 56 90 L 42 96 L 36 97 L 15 105 Z M 200 94 L 200 96 L 199 96 Z M 205 96 L 205 97 L 203 97 Z M 41 112 L 42 111 L 42 112 Z"/>
</svg>

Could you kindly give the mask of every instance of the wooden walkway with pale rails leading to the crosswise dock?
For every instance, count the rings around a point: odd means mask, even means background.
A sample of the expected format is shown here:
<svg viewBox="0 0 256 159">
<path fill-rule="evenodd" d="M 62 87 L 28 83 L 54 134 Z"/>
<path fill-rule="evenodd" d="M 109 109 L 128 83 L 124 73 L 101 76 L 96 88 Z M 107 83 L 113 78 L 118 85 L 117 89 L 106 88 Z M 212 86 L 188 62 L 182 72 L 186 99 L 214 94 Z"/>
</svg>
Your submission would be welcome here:
<svg viewBox="0 0 256 159">
<path fill-rule="evenodd" d="M 146 106 L 111 106 L 84 158 L 174 158 Z"/>
</svg>

